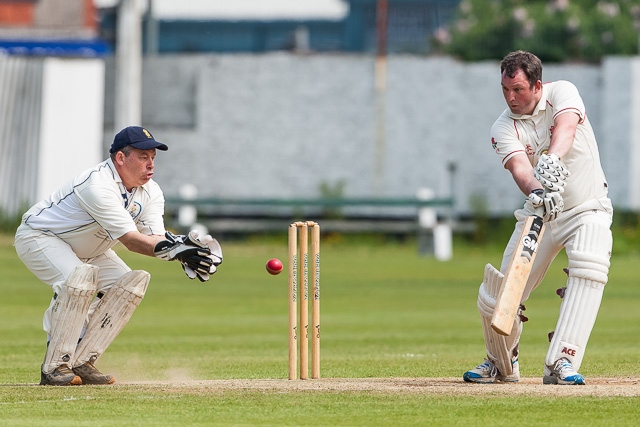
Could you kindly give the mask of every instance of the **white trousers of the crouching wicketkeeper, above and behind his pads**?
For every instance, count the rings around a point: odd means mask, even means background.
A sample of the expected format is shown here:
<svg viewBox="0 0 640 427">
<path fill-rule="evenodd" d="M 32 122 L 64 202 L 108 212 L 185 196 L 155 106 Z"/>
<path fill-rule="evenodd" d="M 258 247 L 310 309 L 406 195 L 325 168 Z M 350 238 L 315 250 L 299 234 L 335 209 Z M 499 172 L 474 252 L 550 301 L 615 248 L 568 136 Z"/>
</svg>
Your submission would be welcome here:
<svg viewBox="0 0 640 427">
<path fill-rule="evenodd" d="M 91 264 L 100 268 L 98 271 L 98 293 L 105 292 L 120 277 L 131 271 L 129 266 L 112 249 L 94 258 L 81 259 L 64 240 L 54 234 L 34 230 L 25 224 L 18 227 L 14 246 L 24 265 L 38 279 L 51 286 L 54 294 L 60 292 L 71 272 L 82 264 Z M 51 329 L 51 307 L 54 301 L 52 298 L 42 320 L 42 328 L 47 335 Z M 99 298 L 96 297 L 91 303 L 85 327 L 98 302 Z"/>
</svg>

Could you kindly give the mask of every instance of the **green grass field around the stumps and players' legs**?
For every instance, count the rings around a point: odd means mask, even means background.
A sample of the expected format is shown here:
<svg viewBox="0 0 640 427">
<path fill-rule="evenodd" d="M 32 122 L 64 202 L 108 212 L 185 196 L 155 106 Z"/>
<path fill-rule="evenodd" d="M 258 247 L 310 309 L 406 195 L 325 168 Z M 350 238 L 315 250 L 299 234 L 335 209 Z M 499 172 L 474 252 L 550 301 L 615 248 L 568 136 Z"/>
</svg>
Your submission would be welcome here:
<svg viewBox="0 0 640 427">
<path fill-rule="evenodd" d="M 497 249 L 456 244 L 437 262 L 412 243 L 351 242 L 323 236 L 322 376 L 460 379 L 482 361 L 476 310 L 484 265 Z M 637 425 L 637 396 L 487 396 L 206 387 L 172 389 L 134 382 L 287 377 L 287 277 L 281 239 L 224 242 L 224 264 L 209 283 L 180 267 L 118 252 L 152 279 L 131 322 L 98 366 L 109 387 L 39 387 L 45 350 L 42 312 L 51 297 L 21 264 L 11 236 L 0 236 L 0 425 L 7 426 L 498 426 Z M 640 255 L 613 258 L 610 281 L 581 373 L 640 376 Z M 541 377 L 563 286 L 566 259 L 554 263 L 527 303 L 523 377 Z M 482 386 L 478 386 L 482 387 Z M 548 386 L 554 387 L 554 386 Z M 589 387 L 584 386 L 584 387 Z"/>
</svg>

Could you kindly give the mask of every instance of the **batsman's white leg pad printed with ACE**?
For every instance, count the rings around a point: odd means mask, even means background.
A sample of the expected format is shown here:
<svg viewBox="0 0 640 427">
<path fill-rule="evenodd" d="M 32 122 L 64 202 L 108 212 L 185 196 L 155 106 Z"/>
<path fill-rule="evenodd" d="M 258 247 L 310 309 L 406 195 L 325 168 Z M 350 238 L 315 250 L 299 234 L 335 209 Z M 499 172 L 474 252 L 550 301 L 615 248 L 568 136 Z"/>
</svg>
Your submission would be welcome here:
<svg viewBox="0 0 640 427">
<path fill-rule="evenodd" d="M 607 284 L 612 245 L 611 231 L 599 224 L 585 224 L 576 234 L 574 248 L 567 254 L 569 278 L 547 366 L 566 357 L 576 371 L 580 369 Z"/>
</svg>

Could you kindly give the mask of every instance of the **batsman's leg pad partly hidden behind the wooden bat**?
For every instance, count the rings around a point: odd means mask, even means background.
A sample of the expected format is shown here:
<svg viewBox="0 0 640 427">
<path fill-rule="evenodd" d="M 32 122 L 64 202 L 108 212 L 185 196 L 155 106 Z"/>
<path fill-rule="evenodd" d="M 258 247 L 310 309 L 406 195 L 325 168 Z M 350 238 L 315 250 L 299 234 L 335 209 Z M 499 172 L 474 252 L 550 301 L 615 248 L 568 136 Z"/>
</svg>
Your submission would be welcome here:
<svg viewBox="0 0 640 427">
<path fill-rule="evenodd" d="M 500 293 L 504 275 L 493 265 L 484 267 L 484 280 L 478 292 L 478 311 L 482 317 L 484 342 L 487 347 L 487 358 L 498 368 L 502 375 L 511 375 L 513 365 L 511 358 L 513 350 L 518 346 L 522 333 L 522 322 L 516 316 L 511 334 L 507 337 L 498 334 L 491 327 L 491 317 L 496 306 L 496 298 Z"/>
</svg>

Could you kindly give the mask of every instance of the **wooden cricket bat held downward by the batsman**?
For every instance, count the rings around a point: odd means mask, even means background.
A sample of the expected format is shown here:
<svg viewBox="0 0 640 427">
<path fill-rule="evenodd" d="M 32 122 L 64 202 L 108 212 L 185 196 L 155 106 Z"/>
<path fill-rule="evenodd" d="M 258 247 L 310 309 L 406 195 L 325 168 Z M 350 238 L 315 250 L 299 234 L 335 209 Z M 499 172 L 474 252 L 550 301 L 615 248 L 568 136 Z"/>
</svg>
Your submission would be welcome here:
<svg viewBox="0 0 640 427">
<path fill-rule="evenodd" d="M 543 233 L 542 217 L 539 215 L 528 217 L 520 234 L 518 246 L 513 252 L 509 267 L 502 279 L 491 318 L 491 327 L 500 335 L 507 336 L 511 333 Z"/>
</svg>

